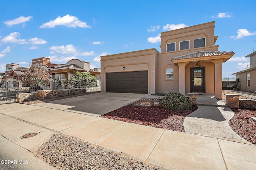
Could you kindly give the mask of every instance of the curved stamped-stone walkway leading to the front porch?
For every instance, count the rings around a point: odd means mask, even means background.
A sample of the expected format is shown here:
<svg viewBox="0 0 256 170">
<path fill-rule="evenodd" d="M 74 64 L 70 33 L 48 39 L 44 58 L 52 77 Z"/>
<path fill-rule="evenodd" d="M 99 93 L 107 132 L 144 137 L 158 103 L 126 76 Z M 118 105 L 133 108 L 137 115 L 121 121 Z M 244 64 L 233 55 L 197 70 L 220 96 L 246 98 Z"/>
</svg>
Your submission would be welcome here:
<svg viewBox="0 0 256 170">
<path fill-rule="evenodd" d="M 234 116 L 228 107 L 198 106 L 184 119 L 186 133 L 251 144 L 237 135 L 228 121 Z"/>
</svg>

